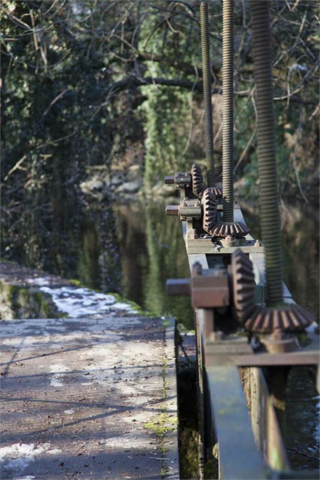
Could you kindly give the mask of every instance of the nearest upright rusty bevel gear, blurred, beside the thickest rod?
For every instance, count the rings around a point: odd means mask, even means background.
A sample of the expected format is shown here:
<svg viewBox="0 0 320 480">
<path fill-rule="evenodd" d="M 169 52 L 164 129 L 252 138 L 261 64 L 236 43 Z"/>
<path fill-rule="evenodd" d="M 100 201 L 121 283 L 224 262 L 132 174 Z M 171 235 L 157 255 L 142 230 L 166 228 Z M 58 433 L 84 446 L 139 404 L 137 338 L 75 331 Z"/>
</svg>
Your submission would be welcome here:
<svg viewBox="0 0 320 480">
<path fill-rule="evenodd" d="M 255 282 L 252 263 L 240 248 L 231 257 L 233 303 L 237 318 L 243 323 L 255 310 Z"/>
</svg>

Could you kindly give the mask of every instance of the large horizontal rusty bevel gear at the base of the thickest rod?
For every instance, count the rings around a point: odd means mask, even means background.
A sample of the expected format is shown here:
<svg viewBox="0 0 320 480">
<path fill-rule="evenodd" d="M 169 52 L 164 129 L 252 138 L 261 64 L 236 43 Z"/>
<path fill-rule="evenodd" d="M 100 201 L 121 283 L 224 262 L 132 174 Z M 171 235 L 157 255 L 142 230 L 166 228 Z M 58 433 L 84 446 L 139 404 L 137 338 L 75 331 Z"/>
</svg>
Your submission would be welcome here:
<svg viewBox="0 0 320 480">
<path fill-rule="evenodd" d="M 244 326 L 257 333 L 271 333 L 275 330 L 303 330 L 312 322 L 313 315 L 300 305 L 290 304 L 279 308 L 259 305 L 244 322 Z"/>
</svg>

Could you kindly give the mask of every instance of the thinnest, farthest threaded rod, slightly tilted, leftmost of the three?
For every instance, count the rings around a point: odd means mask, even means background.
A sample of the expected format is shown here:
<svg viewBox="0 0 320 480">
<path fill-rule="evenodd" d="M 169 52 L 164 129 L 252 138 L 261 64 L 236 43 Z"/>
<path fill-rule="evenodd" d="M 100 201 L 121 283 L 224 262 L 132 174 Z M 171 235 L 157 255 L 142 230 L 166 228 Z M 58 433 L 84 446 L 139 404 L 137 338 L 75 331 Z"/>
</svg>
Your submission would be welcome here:
<svg viewBox="0 0 320 480">
<path fill-rule="evenodd" d="M 207 182 L 208 182 L 208 187 L 213 187 L 215 185 L 215 167 L 214 167 L 213 122 L 212 122 L 211 82 L 210 82 L 209 13 L 208 13 L 207 2 L 200 3 L 200 30 L 201 30 L 203 96 L 204 96 L 204 107 L 205 107 Z"/>
</svg>

